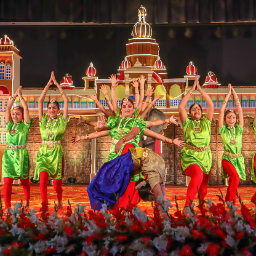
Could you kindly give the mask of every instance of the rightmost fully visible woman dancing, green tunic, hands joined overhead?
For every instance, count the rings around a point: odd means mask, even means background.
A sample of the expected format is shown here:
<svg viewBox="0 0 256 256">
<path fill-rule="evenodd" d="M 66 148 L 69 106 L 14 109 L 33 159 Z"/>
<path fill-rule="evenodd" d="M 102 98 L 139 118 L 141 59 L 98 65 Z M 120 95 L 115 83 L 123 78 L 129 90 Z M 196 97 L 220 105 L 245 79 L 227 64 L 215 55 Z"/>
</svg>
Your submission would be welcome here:
<svg viewBox="0 0 256 256">
<path fill-rule="evenodd" d="M 230 95 L 234 95 L 236 108 L 238 108 L 238 122 L 236 112 L 228 108 L 225 113 L 226 103 Z M 244 157 L 241 154 L 242 132 L 244 130 L 244 116 L 238 95 L 231 84 L 228 84 L 228 94 L 220 107 L 219 131 L 222 135 L 224 154 L 222 155 L 222 178 L 230 177 L 228 180 L 228 190 L 226 191 L 226 202 L 236 203 L 236 190 L 238 189 L 240 178 L 246 180 L 246 168 Z"/>
</svg>

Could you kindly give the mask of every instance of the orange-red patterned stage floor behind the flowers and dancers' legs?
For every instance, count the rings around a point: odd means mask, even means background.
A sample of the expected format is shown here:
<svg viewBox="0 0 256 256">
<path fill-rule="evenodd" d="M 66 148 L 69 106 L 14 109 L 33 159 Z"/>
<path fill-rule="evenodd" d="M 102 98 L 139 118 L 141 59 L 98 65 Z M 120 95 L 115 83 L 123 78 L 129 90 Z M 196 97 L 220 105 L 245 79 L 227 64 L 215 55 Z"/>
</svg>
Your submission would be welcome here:
<svg viewBox="0 0 256 256">
<path fill-rule="evenodd" d="M 66 207 L 68 206 L 68 199 L 71 203 L 71 209 L 74 210 L 74 207 L 76 207 L 76 204 L 80 205 L 86 205 L 86 210 L 90 209 L 90 202 L 88 198 L 88 194 L 86 192 L 86 185 L 63 185 L 63 209 L 58 210 L 59 217 L 64 217 L 66 212 Z M 166 193 L 167 198 L 170 199 L 171 204 L 173 205 L 173 208 L 170 209 L 171 213 L 176 212 L 175 207 L 175 195 L 178 199 L 178 206 L 180 209 L 183 209 L 185 204 L 185 198 L 186 198 L 186 186 L 174 186 L 174 185 L 168 185 L 166 186 Z M 207 198 L 212 199 L 212 202 L 217 203 L 218 197 L 216 195 L 220 195 L 220 191 L 223 193 L 223 197 L 225 198 L 226 194 L 226 186 L 217 186 L 212 185 L 208 186 L 208 192 L 207 192 Z M 0 191 L 2 196 L 2 202 L 4 204 L 4 198 L 2 194 L 2 185 L 0 185 Z M 249 208 L 254 208 L 254 204 L 250 202 L 250 198 L 256 191 L 256 186 L 239 186 L 238 193 L 241 196 L 242 202 L 246 204 Z M 14 185 L 12 188 L 12 204 L 15 204 L 15 202 L 20 202 L 20 200 L 23 199 L 23 189 L 21 185 Z M 54 201 L 57 202 L 57 196 L 54 191 L 54 187 L 52 185 L 48 186 L 48 199 L 49 199 L 49 212 L 54 211 Z M 195 201 L 196 205 L 198 204 L 198 199 L 196 198 Z M 236 201 L 237 206 L 240 209 L 239 201 Z M 37 215 L 40 215 L 39 208 L 41 207 L 41 196 L 40 196 L 40 190 L 39 185 L 31 185 L 31 199 L 30 199 L 30 207 L 31 209 L 35 208 L 38 212 Z M 143 211 L 146 210 L 146 214 L 151 215 L 153 210 L 151 208 L 151 202 L 145 202 L 140 201 L 139 204 L 140 209 Z"/>
</svg>

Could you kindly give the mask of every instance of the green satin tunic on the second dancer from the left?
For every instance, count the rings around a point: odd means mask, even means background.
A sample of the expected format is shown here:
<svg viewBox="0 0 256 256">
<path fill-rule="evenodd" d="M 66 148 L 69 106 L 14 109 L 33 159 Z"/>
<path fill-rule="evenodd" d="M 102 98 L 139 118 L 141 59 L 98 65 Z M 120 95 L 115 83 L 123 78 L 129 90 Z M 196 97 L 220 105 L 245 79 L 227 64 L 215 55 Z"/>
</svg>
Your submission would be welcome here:
<svg viewBox="0 0 256 256">
<path fill-rule="evenodd" d="M 42 140 L 49 140 L 46 135 L 47 113 L 42 115 L 42 121 L 39 122 Z M 52 132 L 55 119 L 49 122 L 48 132 Z M 63 113 L 60 114 L 58 121 L 54 127 L 53 141 L 59 141 L 65 132 L 68 118 L 66 121 L 63 119 Z M 36 170 L 34 170 L 34 180 L 39 180 L 40 172 L 48 172 L 49 180 L 55 178 L 56 180 L 62 179 L 62 160 L 63 150 L 62 145 L 55 145 L 53 148 L 48 148 L 47 145 L 40 145 L 38 155 L 36 156 Z"/>
</svg>

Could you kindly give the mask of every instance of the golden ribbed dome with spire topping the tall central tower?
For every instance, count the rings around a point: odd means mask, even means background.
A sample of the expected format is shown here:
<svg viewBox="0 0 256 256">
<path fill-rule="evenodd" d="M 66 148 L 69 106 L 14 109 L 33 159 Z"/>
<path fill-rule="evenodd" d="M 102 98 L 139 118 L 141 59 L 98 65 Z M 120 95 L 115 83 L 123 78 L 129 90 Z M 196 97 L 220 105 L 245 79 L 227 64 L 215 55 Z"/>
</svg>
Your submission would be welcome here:
<svg viewBox="0 0 256 256">
<path fill-rule="evenodd" d="M 152 28 L 146 23 L 146 9 L 140 6 L 138 9 L 138 22 L 132 29 L 132 36 L 134 38 L 151 38 Z"/>
</svg>

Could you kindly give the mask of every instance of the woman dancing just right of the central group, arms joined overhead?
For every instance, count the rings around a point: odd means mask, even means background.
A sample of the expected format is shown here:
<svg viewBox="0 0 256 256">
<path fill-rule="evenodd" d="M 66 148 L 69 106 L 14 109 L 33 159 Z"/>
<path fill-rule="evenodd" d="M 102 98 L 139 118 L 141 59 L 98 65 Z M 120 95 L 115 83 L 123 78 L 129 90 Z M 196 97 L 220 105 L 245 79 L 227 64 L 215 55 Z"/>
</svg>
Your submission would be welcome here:
<svg viewBox="0 0 256 256">
<path fill-rule="evenodd" d="M 198 90 L 207 103 L 206 114 L 202 115 L 202 108 L 194 103 L 190 106 L 190 114 L 186 113 L 186 103 Z M 180 153 L 182 174 L 191 177 L 186 193 L 185 207 L 193 200 L 198 192 L 204 200 L 207 194 L 210 167 L 212 166 L 212 153 L 210 151 L 210 124 L 214 116 L 214 103 L 209 95 L 201 89 L 198 78 L 194 80 L 193 87 L 186 94 L 178 106 L 180 120 L 184 129 L 185 146 Z"/>
</svg>

